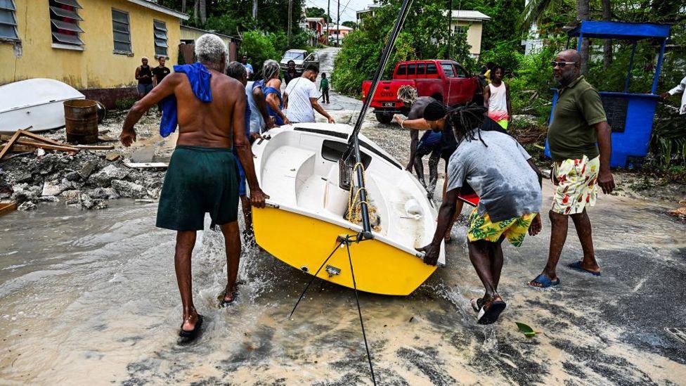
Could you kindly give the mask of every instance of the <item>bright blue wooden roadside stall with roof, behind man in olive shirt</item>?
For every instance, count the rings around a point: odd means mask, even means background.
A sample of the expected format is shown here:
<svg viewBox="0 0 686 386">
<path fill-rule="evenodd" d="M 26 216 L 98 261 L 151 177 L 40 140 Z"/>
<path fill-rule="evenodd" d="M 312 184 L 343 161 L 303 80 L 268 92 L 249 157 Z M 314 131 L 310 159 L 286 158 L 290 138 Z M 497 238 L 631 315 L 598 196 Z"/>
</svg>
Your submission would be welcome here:
<svg viewBox="0 0 686 386">
<path fill-rule="evenodd" d="M 642 159 L 648 151 L 648 143 L 653 126 L 655 107 L 659 100 L 657 81 L 662 69 L 665 43 L 669 36 L 668 25 L 633 23 L 633 22 L 609 22 L 584 20 L 578 27 L 569 31 L 569 38 L 578 37 L 577 51 L 581 51 L 583 38 L 597 39 L 623 39 L 633 41 L 629 69 L 626 74 L 623 92 L 599 91 L 602 104 L 607 115 L 607 122 L 612 128 L 612 157 L 611 167 L 626 167 L 634 160 Z M 655 76 L 650 94 L 630 93 L 629 82 L 631 70 L 633 70 L 633 57 L 636 52 L 636 44 L 641 39 L 658 39 L 661 41 L 660 53 L 655 69 Z M 568 40 L 569 45 L 569 40 Z M 557 105 L 557 89 L 552 97 L 552 112 Z M 545 155 L 550 157 L 548 141 L 545 142 Z"/>
</svg>

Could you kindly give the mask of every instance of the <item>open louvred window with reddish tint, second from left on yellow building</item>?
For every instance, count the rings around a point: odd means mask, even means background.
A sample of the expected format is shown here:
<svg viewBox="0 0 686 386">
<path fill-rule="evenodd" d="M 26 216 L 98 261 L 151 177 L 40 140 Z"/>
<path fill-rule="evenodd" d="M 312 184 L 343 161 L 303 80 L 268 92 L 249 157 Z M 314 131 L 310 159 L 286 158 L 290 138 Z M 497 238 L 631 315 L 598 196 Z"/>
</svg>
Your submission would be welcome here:
<svg viewBox="0 0 686 386">
<path fill-rule="evenodd" d="M 50 28 L 53 44 L 82 47 L 79 36 L 84 30 L 79 27 L 81 5 L 76 0 L 48 0 L 50 6 Z"/>
</svg>

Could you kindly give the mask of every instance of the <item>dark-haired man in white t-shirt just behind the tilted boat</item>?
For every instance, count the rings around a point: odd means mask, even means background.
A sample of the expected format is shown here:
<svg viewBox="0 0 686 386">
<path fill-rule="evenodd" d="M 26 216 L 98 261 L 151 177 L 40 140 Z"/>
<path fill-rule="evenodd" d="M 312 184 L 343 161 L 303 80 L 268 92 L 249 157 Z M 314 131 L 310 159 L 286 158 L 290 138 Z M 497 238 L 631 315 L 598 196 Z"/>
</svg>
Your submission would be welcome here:
<svg viewBox="0 0 686 386">
<path fill-rule="evenodd" d="M 319 75 L 316 65 L 309 65 L 302 73 L 302 77 L 293 79 L 286 86 L 284 99 L 286 117 L 292 123 L 314 122 L 314 110 L 323 115 L 329 123 L 335 123 L 331 115 L 324 110 L 317 101 L 320 97 L 314 82 Z"/>
</svg>

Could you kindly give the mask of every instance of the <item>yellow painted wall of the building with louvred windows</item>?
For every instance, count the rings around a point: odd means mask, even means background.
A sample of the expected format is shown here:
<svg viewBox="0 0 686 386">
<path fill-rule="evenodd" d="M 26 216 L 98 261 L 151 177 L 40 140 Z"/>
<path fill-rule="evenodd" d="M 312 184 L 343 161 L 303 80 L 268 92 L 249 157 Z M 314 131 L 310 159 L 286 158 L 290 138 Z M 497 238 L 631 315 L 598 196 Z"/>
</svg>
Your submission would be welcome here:
<svg viewBox="0 0 686 386">
<path fill-rule="evenodd" d="M 134 74 L 141 58 L 155 65 L 153 19 L 167 25 L 167 66 L 179 57 L 179 18 L 138 6 L 127 0 L 81 0 L 84 8 L 79 26 L 84 51 L 52 47 L 50 12 L 47 0 L 19 0 L 16 16 L 21 56 L 14 44 L 0 42 L 0 84 L 30 78 L 57 79 L 76 89 L 109 89 L 136 84 Z M 133 56 L 112 53 L 112 8 L 129 13 Z"/>
</svg>

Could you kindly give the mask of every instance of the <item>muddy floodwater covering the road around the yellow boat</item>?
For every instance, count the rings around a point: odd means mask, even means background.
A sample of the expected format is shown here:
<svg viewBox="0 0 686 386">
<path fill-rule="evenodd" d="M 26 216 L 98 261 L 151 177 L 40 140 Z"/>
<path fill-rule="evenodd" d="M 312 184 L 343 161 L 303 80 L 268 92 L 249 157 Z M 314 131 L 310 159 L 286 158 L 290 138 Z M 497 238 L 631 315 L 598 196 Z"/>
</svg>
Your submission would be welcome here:
<svg viewBox="0 0 686 386">
<path fill-rule="evenodd" d="M 338 120 L 354 106 L 332 95 Z M 406 162 L 406 131 L 370 118 L 363 133 Z M 545 182 L 543 208 L 551 194 Z M 561 285 L 536 290 L 526 282 L 547 257 L 544 216 L 541 235 L 504 248 L 498 289 L 507 309 L 491 326 L 475 323 L 469 300 L 483 288 L 465 227 L 455 226 L 447 266 L 412 295 L 360 295 L 377 383 L 686 384 L 686 225 L 668 209 L 601 195 L 590 218 L 602 276 L 564 267 L 581 257 L 570 223 Z M 226 260 L 214 231 L 198 233 L 193 252 L 206 323 L 198 340 L 179 342 L 174 233 L 155 228 L 156 210 L 156 202 L 117 200 L 94 212 L 58 202 L 0 219 L 0 383 L 371 384 L 352 290 L 316 281 L 288 319 L 309 276 L 245 248 L 238 300 L 219 309 Z M 284 231 L 295 243 L 307 237 Z"/>
</svg>

